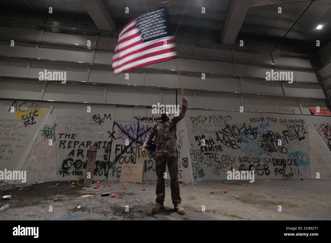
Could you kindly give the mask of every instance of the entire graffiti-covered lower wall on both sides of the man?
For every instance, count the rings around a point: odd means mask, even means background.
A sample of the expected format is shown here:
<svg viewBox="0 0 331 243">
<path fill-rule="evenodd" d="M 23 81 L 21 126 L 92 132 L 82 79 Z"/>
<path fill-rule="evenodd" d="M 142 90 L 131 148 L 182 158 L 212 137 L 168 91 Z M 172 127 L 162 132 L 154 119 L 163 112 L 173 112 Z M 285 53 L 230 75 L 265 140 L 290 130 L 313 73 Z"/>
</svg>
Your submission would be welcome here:
<svg viewBox="0 0 331 243">
<path fill-rule="evenodd" d="M 94 179 L 119 180 L 122 165 L 134 163 L 144 165 L 143 180 L 157 179 L 153 154 L 140 154 L 155 121 L 146 108 L 139 116 L 110 105 L 1 101 L 0 111 L 2 171 L 26 170 L 28 182 L 84 179 L 96 147 Z M 177 124 L 178 180 L 226 179 L 231 168 L 256 179 L 330 179 L 329 124 L 322 116 L 188 109 Z"/>
</svg>

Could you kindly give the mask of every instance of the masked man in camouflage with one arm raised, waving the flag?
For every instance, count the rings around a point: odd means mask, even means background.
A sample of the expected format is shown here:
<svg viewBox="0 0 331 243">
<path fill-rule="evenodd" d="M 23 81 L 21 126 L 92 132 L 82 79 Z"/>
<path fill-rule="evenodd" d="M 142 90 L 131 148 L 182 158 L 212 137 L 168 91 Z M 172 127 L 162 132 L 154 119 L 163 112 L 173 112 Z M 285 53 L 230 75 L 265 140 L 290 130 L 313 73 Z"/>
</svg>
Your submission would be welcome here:
<svg viewBox="0 0 331 243">
<path fill-rule="evenodd" d="M 168 117 L 166 114 L 162 114 L 161 118 L 154 122 L 150 133 L 148 134 L 142 150 L 141 155 L 144 157 L 147 150 L 147 144 L 152 141 L 156 145 L 155 151 L 155 163 L 156 163 L 156 175 L 158 181 L 156 184 L 156 205 L 152 208 L 153 213 L 157 213 L 160 209 L 164 208 L 163 202 L 165 201 L 166 188 L 165 179 L 163 178 L 166 172 L 166 163 L 168 164 L 168 170 L 170 175 L 170 189 L 171 199 L 174 205 L 174 209 L 178 214 L 184 215 L 185 210 L 180 205 L 181 198 L 179 193 L 178 183 L 178 167 L 177 167 L 177 145 L 176 145 L 176 125 L 184 118 L 186 112 L 187 98 L 182 97 L 183 105 L 179 116 Z"/>
</svg>

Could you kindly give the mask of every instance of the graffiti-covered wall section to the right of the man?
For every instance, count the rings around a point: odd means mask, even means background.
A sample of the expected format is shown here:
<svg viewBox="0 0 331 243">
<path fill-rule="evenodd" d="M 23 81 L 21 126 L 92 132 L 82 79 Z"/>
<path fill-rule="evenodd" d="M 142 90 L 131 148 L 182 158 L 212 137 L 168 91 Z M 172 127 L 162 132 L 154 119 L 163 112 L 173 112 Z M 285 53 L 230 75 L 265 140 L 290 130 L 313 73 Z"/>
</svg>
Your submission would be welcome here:
<svg viewBox="0 0 331 243">
<path fill-rule="evenodd" d="M 321 178 L 330 178 L 330 117 L 190 109 L 185 121 L 193 181 L 226 179 L 232 168 L 253 170 L 256 179 L 308 178 L 317 172 Z M 315 153 L 326 154 L 318 160 L 323 166 L 313 160 L 313 173 L 308 125 L 316 133 L 310 135 L 314 136 L 311 141 L 319 142 Z"/>
</svg>

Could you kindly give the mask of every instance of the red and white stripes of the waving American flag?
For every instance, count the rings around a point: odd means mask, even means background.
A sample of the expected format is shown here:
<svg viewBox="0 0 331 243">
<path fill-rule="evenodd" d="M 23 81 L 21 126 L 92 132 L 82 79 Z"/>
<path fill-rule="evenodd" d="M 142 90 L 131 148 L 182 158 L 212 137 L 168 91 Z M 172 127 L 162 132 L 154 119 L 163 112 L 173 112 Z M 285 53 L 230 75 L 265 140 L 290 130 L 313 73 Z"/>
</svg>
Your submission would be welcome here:
<svg viewBox="0 0 331 243">
<path fill-rule="evenodd" d="M 119 32 L 112 66 L 114 74 L 175 58 L 174 36 L 143 42 L 136 26 L 131 20 Z"/>
</svg>

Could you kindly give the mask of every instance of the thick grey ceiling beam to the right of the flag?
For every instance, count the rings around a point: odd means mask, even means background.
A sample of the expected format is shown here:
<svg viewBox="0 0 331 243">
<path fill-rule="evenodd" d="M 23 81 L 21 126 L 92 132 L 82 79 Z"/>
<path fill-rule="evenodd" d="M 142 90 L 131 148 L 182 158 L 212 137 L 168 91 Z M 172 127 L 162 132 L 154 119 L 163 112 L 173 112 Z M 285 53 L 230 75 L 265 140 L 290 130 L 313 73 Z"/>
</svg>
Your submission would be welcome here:
<svg viewBox="0 0 331 243">
<path fill-rule="evenodd" d="M 221 43 L 233 45 L 243 24 L 252 0 L 232 0 L 221 34 Z"/>
</svg>

